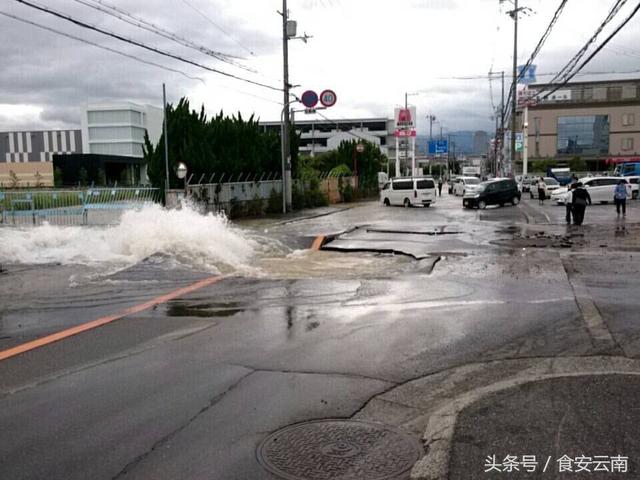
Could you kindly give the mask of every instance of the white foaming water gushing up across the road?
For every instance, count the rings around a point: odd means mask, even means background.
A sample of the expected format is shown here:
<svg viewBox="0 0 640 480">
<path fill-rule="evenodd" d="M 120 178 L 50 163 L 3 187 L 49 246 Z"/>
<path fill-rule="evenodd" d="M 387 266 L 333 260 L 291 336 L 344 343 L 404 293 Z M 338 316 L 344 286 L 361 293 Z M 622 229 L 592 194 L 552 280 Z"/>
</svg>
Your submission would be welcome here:
<svg viewBox="0 0 640 480">
<path fill-rule="evenodd" d="M 218 273 L 249 268 L 254 255 L 266 248 L 264 241 L 233 227 L 225 216 L 202 215 L 189 207 L 149 205 L 125 212 L 113 227 L 0 229 L 0 262 L 15 264 L 118 269 L 160 256 Z"/>
</svg>

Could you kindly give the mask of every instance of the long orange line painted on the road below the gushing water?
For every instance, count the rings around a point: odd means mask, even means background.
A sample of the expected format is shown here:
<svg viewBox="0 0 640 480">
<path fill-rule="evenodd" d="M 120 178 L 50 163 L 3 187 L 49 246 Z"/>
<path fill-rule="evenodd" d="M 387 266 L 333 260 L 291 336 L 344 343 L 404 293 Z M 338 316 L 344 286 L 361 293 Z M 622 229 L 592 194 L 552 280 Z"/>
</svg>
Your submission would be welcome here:
<svg viewBox="0 0 640 480">
<path fill-rule="evenodd" d="M 113 315 L 107 315 L 106 317 L 100 317 L 96 320 L 92 320 L 90 322 L 83 323 L 81 325 L 77 325 L 75 327 L 71 327 L 66 330 L 53 333 L 51 335 L 47 335 L 46 337 L 38 338 L 36 340 L 23 343 L 16 347 L 9 348 L 8 350 L 0 351 L 0 361 L 6 360 L 7 358 L 15 357 L 16 355 L 20 355 L 21 353 L 25 353 L 30 350 L 35 350 L 36 348 L 44 347 L 45 345 L 49 345 L 51 343 L 54 343 L 60 340 L 64 340 L 65 338 L 78 335 L 79 333 L 86 332 L 88 330 L 93 330 L 94 328 L 98 328 L 103 325 L 106 325 L 107 323 L 120 320 L 121 318 L 127 317 L 129 315 L 140 313 L 144 310 L 148 310 L 151 307 L 160 305 L 161 303 L 166 303 L 170 300 L 173 300 L 174 298 L 178 298 L 188 293 L 195 292 L 196 290 L 199 290 L 201 288 L 207 287 L 209 285 L 213 285 L 214 283 L 219 282 L 223 278 L 224 276 L 222 275 L 217 277 L 205 278 L 204 280 L 200 280 L 198 282 L 192 283 L 191 285 L 187 285 L 186 287 L 179 288 L 165 295 L 160 295 L 159 297 L 153 298 L 147 302 L 141 303 L 139 305 L 134 305 L 133 307 L 129 307 L 125 310 L 122 310 L 119 313 L 116 313 Z"/>
</svg>

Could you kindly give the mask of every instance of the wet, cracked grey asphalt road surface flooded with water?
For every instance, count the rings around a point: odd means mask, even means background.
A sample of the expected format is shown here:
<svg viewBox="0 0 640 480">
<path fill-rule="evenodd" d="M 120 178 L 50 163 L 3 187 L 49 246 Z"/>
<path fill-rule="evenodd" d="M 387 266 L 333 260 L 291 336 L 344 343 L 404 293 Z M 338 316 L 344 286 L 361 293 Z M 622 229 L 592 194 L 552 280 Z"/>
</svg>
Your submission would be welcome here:
<svg viewBox="0 0 640 480">
<path fill-rule="evenodd" d="M 412 379 L 499 359 L 638 358 L 639 221 L 640 202 L 625 219 L 594 206 L 573 227 L 564 207 L 464 210 L 445 194 L 428 209 L 240 222 L 295 253 L 0 361 L 2 478 L 269 479 L 255 452 L 271 432 L 351 418 Z M 302 251 L 316 235 L 327 250 Z M 0 350 L 209 276 L 161 261 L 89 278 L 4 268 Z M 615 340 L 607 351 L 572 279 Z"/>
</svg>

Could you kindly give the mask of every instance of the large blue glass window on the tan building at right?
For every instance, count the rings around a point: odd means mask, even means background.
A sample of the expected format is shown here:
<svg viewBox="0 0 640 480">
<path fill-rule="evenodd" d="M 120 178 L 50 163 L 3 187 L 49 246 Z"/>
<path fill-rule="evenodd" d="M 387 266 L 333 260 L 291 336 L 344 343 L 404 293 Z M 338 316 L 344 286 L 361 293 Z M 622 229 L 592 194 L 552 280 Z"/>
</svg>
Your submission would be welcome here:
<svg viewBox="0 0 640 480">
<path fill-rule="evenodd" d="M 558 117 L 558 154 L 609 153 L 609 116 Z"/>
</svg>

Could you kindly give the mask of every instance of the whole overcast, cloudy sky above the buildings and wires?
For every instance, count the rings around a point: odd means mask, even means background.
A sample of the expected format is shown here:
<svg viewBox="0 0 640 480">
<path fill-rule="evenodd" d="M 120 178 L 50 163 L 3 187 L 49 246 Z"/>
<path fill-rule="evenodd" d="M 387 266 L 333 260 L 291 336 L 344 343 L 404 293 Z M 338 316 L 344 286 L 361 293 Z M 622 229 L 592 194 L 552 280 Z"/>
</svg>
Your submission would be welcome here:
<svg viewBox="0 0 640 480">
<path fill-rule="evenodd" d="M 208 67 L 266 85 L 282 85 L 280 0 L 29 0 L 124 37 L 144 42 Z M 169 39 L 123 23 L 84 4 L 116 6 L 198 45 L 238 57 L 242 68 L 220 62 Z M 524 63 L 560 0 L 520 0 L 531 9 L 519 23 L 518 61 Z M 614 0 L 568 0 L 536 59 L 541 74 L 556 72 L 592 35 Z M 602 32 L 603 40 L 635 7 L 627 2 Z M 294 91 L 337 92 L 331 118 L 392 116 L 413 93 L 418 128 L 435 115 L 449 131 L 488 129 L 500 82 L 481 76 L 511 72 L 513 22 L 509 1 L 499 0 L 289 0 L 291 18 L 308 43 L 290 42 Z M 0 12 L 45 25 L 145 62 L 140 63 L 0 15 L 0 130 L 76 127 L 82 104 L 133 101 L 162 104 L 188 96 L 210 113 L 224 110 L 279 118 L 280 92 L 225 78 L 78 27 L 15 0 Z M 639 73 L 640 15 L 585 68 L 588 72 Z M 160 66 L 178 70 L 167 71 Z M 192 77 L 192 78 L 189 78 Z M 540 76 L 539 80 L 548 80 Z M 587 77 L 578 77 L 587 78 Z M 602 75 L 588 77 L 605 79 Z M 508 88 L 508 85 L 507 85 Z M 493 98 L 492 98 L 493 97 Z M 436 128 L 439 128 L 437 126 Z"/>
</svg>

